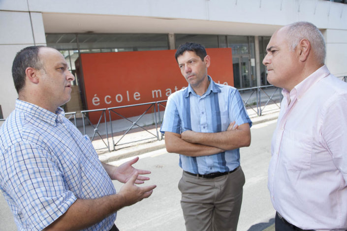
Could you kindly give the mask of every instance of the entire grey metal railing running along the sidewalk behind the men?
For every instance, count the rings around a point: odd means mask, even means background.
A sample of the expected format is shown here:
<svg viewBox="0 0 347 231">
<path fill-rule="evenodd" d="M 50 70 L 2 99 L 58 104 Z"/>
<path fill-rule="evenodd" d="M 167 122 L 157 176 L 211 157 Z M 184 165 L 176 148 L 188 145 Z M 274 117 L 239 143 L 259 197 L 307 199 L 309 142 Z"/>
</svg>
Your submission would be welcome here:
<svg viewBox="0 0 347 231">
<path fill-rule="evenodd" d="M 347 82 L 347 76 L 341 76 L 338 78 L 340 78 L 342 81 Z M 261 116 L 261 115 L 263 115 L 264 112 L 268 112 L 265 110 L 266 110 L 266 107 L 270 103 L 272 103 L 272 105 L 276 105 L 277 106 L 276 108 L 280 109 L 280 102 L 283 99 L 283 95 L 281 93 L 281 88 L 279 88 L 279 87 L 274 87 L 272 85 L 268 85 L 268 86 L 261 86 L 261 87 L 243 88 L 243 89 L 238 89 L 238 90 L 243 95 L 242 100 L 244 102 L 245 107 L 248 109 L 252 109 L 252 111 L 254 113 L 256 113 L 257 116 Z M 133 104 L 133 105 L 120 106 L 120 107 L 112 107 L 112 108 L 107 108 L 107 109 L 104 108 L 104 109 L 97 109 L 97 110 L 81 111 L 84 134 L 85 135 L 87 134 L 86 127 L 88 126 L 88 124 L 87 124 L 87 122 L 88 122 L 91 125 L 91 127 L 94 129 L 93 130 L 94 133 L 92 135 L 91 140 L 93 141 L 95 139 L 95 136 L 97 135 L 102 140 L 103 144 L 107 147 L 108 151 L 116 150 L 117 145 L 131 144 L 134 142 L 145 141 L 145 140 L 150 140 L 150 139 L 154 139 L 154 138 L 156 138 L 156 140 L 162 140 L 163 135 L 160 133 L 160 136 L 159 136 L 158 128 L 160 128 L 160 124 L 162 122 L 161 113 L 163 112 L 162 109 L 166 108 L 166 102 L 167 102 L 167 100 L 162 100 L 162 101 L 157 101 L 157 102 Z M 146 110 L 144 110 L 144 112 L 141 115 L 134 116 L 134 117 L 136 117 L 136 119 L 134 121 L 132 121 L 131 118 L 128 118 L 119 112 L 120 109 L 146 106 L 146 105 L 148 106 L 148 108 L 146 108 Z M 156 130 L 155 133 L 156 134 L 154 134 L 151 131 L 149 131 L 148 129 L 146 129 L 145 128 L 146 125 L 141 125 L 139 123 L 140 119 L 143 118 L 144 115 L 148 114 L 149 110 L 152 108 L 154 111 L 153 112 L 153 117 L 154 117 L 153 124 L 155 125 L 155 130 Z M 270 109 L 270 111 L 273 111 L 274 110 L 273 107 L 271 107 L 271 108 L 272 109 Z M 162 110 L 161 113 L 160 113 L 160 109 Z M 108 111 L 108 114 L 109 114 L 109 121 L 107 121 L 107 119 L 106 119 L 106 111 Z M 96 124 L 93 124 L 88 115 L 90 113 L 97 113 L 97 112 L 100 112 L 100 115 L 98 117 L 98 122 Z M 65 115 L 68 116 L 67 119 L 69 119 L 69 120 L 73 117 L 74 124 L 75 124 L 75 126 L 77 126 L 76 112 L 65 113 Z M 131 123 L 131 125 L 126 130 L 122 130 L 125 132 L 120 137 L 120 139 L 118 139 L 117 141 L 115 141 L 115 136 L 114 136 L 115 131 L 113 129 L 114 125 L 113 125 L 113 121 L 112 121 L 112 115 L 117 115 L 120 118 L 123 118 L 125 121 L 128 121 L 129 123 Z M 5 119 L 0 119 L 0 122 L 4 121 L 4 120 Z M 108 128 L 107 128 L 108 122 L 110 123 L 109 126 L 111 128 L 113 148 L 110 148 L 110 143 L 109 143 L 109 134 L 108 134 Z M 106 135 L 107 144 L 105 142 L 105 138 L 103 138 L 102 135 L 100 134 L 99 127 L 101 126 L 101 123 L 105 124 L 105 130 L 103 130 L 102 134 L 104 136 Z M 137 127 L 143 131 L 146 131 L 148 134 L 151 135 L 151 137 L 145 138 L 145 139 L 142 139 L 142 138 L 141 139 L 133 139 L 130 142 L 120 143 L 121 140 L 126 136 L 126 134 L 129 134 L 131 129 L 134 129 Z M 89 132 L 89 133 L 91 134 L 91 132 Z"/>
</svg>

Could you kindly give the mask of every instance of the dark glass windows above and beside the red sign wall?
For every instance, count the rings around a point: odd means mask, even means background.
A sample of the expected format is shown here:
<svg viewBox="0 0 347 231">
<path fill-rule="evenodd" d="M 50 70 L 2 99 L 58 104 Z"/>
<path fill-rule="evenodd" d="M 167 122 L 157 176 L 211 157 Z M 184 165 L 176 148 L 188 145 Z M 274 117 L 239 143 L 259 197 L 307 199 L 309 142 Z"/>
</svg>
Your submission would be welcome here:
<svg viewBox="0 0 347 231">
<path fill-rule="evenodd" d="M 46 41 L 47 46 L 61 51 L 75 76 L 75 61 L 80 53 L 169 49 L 168 34 L 47 33 Z M 234 86 L 237 88 L 256 86 L 254 36 L 175 34 L 175 48 L 186 42 L 201 43 L 206 48 L 231 48 Z M 77 78 L 74 84 L 78 85 Z"/>
</svg>

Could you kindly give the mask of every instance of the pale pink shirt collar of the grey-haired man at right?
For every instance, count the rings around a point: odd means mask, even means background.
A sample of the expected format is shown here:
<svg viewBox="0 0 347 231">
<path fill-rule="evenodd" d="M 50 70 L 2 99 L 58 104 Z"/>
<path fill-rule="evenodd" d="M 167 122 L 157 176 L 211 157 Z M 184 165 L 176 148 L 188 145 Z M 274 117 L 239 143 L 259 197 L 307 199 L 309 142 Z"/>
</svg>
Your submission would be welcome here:
<svg viewBox="0 0 347 231">
<path fill-rule="evenodd" d="M 316 82 L 323 79 L 324 77 L 327 77 L 330 74 L 330 71 L 328 70 L 326 65 L 321 66 L 318 68 L 314 73 L 309 75 L 306 79 L 301 81 L 298 85 L 296 85 L 290 92 L 283 88 L 282 94 L 286 99 L 288 100 L 288 103 L 290 101 L 293 101 L 295 98 L 300 100 L 303 95 L 312 87 Z"/>
</svg>

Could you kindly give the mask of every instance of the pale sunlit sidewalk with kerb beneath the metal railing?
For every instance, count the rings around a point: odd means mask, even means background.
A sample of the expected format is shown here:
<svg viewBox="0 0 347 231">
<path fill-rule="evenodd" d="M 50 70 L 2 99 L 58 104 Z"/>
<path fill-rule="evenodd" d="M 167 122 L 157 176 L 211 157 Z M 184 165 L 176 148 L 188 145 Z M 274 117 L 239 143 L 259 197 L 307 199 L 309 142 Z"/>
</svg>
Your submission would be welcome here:
<svg viewBox="0 0 347 231">
<path fill-rule="evenodd" d="M 247 112 L 252 120 L 253 125 L 266 122 L 269 120 L 274 120 L 277 119 L 279 115 L 279 104 L 272 104 L 272 105 L 267 105 L 265 110 L 262 112 L 261 116 L 257 116 L 256 112 L 254 112 L 253 109 L 247 109 Z M 153 126 L 152 126 L 153 127 Z M 147 129 L 147 128 L 146 128 Z M 158 127 L 158 134 L 159 134 L 159 139 L 161 138 L 160 133 L 159 133 L 159 127 Z M 155 151 L 158 149 L 165 148 L 165 141 L 164 140 L 159 140 L 155 137 L 157 134 L 156 128 L 151 128 L 148 129 L 147 131 L 144 131 L 143 129 L 136 129 L 138 131 L 132 132 L 129 134 L 126 134 L 123 138 L 123 133 L 120 132 L 114 137 L 115 143 L 117 141 L 122 141 L 120 142 L 120 145 L 116 145 L 116 150 L 113 150 L 113 142 L 112 142 L 112 137 L 108 139 L 108 143 L 110 146 L 111 152 L 108 152 L 107 149 L 107 140 L 104 139 L 105 141 L 102 140 L 95 140 L 93 141 L 93 146 L 96 149 L 96 152 L 99 154 L 99 160 L 104 163 L 109 163 L 113 161 L 117 161 L 120 159 L 124 159 L 127 157 L 132 157 L 136 155 L 141 155 L 150 151 Z M 148 136 L 151 137 L 151 132 L 154 134 L 152 137 L 153 138 L 148 138 Z M 136 142 L 133 142 L 133 141 Z M 143 141 L 138 141 L 138 140 L 143 140 Z M 106 142 L 106 144 L 104 144 Z"/>
</svg>

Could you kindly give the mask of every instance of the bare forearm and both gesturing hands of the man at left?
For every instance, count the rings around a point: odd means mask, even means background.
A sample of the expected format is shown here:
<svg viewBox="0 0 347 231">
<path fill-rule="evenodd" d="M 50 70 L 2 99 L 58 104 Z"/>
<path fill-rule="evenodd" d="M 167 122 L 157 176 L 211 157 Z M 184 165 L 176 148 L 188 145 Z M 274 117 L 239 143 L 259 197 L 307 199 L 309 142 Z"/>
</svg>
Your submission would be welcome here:
<svg viewBox="0 0 347 231">
<path fill-rule="evenodd" d="M 118 194 L 98 199 L 77 199 L 69 209 L 45 230 L 75 231 L 90 227 L 112 213 L 151 196 L 156 185 L 137 187 L 148 177 L 139 174 L 149 174 L 150 171 L 137 170 L 132 167 L 138 157 L 119 167 L 103 164 L 111 179 L 125 183 Z"/>
</svg>

